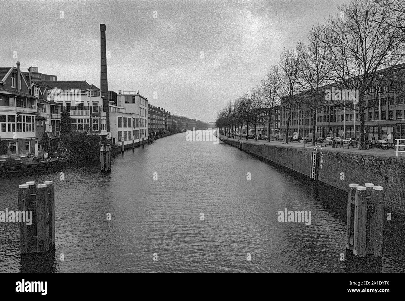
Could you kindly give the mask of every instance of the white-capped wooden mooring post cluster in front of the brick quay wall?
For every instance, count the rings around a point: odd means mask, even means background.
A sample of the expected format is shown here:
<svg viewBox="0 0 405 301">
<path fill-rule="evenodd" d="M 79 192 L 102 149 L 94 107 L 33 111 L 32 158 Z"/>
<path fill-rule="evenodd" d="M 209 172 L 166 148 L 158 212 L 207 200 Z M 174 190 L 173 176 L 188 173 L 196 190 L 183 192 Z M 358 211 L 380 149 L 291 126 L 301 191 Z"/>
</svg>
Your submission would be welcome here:
<svg viewBox="0 0 405 301">
<path fill-rule="evenodd" d="M 349 186 L 346 250 L 358 257 L 382 257 L 384 188 L 373 183 Z"/>
</svg>

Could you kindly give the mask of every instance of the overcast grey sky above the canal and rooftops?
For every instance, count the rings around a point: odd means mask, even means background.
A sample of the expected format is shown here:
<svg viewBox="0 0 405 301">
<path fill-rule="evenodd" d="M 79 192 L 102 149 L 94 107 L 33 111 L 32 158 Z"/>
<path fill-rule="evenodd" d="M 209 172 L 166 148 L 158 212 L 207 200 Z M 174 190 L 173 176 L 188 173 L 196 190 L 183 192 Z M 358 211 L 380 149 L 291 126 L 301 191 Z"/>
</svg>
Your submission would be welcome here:
<svg viewBox="0 0 405 301">
<path fill-rule="evenodd" d="M 260 82 L 284 47 L 294 48 L 343 2 L 0 1 L 0 66 L 18 60 L 58 80 L 100 87 L 104 23 L 109 90 L 139 89 L 172 114 L 215 121 L 229 100 Z"/>
</svg>

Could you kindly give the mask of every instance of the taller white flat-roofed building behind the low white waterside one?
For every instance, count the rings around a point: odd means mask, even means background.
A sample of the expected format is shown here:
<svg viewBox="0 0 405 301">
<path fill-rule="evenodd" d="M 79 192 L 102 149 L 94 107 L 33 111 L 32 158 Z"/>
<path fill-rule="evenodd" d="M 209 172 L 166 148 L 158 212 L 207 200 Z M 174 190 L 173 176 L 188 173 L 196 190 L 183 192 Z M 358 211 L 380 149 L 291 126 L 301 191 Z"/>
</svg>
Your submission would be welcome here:
<svg viewBox="0 0 405 301">
<path fill-rule="evenodd" d="M 148 100 L 139 91 L 118 91 L 117 106 L 124 107 L 126 113 L 139 116 L 139 139 L 148 137 Z"/>
</svg>

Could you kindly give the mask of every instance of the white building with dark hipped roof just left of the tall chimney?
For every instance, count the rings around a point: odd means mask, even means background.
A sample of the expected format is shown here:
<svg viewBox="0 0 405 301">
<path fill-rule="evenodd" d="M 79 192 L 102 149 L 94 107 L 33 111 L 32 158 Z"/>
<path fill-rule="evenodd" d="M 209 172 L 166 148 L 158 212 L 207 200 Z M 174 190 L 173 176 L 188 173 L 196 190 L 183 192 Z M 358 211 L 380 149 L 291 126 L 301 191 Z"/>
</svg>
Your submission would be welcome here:
<svg viewBox="0 0 405 301">
<path fill-rule="evenodd" d="M 85 80 L 43 81 L 40 84 L 50 88 L 47 100 L 58 103 L 61 112 L 70 114 L 72 131 L 107 135 L 107 113 L 103 112 L 103 97 L 98 87 Z"/>
</svg>

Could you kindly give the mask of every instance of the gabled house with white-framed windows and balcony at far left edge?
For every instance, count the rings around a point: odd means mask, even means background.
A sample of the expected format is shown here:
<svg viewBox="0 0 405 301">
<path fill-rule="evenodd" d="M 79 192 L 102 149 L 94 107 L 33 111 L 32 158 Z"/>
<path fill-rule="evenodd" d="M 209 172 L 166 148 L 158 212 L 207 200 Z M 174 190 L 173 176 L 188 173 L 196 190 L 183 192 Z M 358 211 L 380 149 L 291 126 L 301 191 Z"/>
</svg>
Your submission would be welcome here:
<svg viewBox="0 0 405 301">
<path fill-rule="evenodd" d="M 37 97 L 17 67 L 0 67 L 0 154 L 35 154 Z"/>
</svg>

